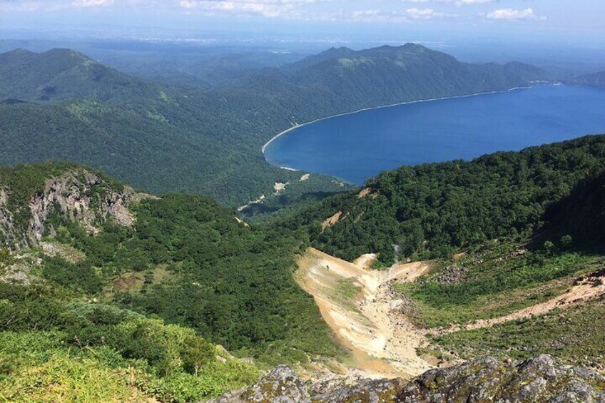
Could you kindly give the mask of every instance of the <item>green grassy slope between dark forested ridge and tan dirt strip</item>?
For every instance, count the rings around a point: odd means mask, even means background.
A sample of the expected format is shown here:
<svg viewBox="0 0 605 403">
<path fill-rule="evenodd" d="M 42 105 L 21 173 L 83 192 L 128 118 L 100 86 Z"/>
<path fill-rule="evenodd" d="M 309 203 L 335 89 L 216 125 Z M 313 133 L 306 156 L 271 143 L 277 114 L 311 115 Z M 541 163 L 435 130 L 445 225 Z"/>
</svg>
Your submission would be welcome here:
<svg viewBox="0 0 605 403">
<path fill-rule="evenodd" d="M 442 260 L 415 283 L 396 285 L 414 302 L 410 317 L 422 327 L 465 325 L 549 300 L 603 257 L 571 250 L 526 250 L 493 243 L 459 260 Z"/>
</svg>

